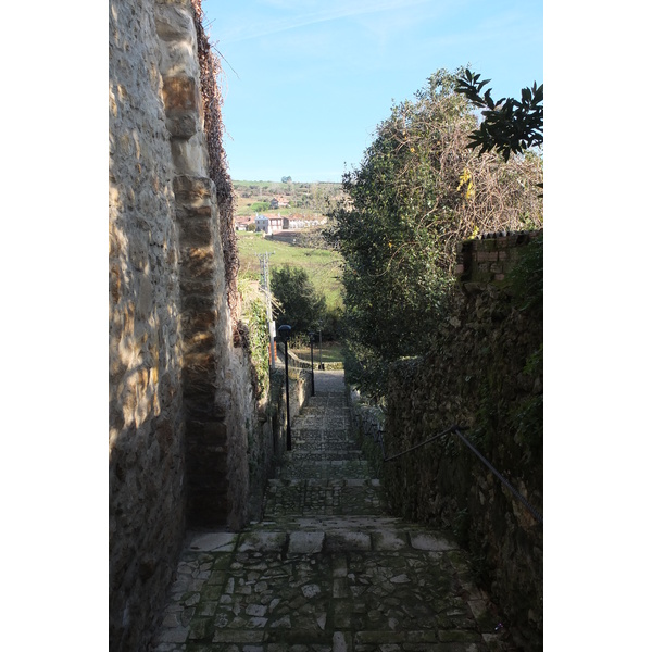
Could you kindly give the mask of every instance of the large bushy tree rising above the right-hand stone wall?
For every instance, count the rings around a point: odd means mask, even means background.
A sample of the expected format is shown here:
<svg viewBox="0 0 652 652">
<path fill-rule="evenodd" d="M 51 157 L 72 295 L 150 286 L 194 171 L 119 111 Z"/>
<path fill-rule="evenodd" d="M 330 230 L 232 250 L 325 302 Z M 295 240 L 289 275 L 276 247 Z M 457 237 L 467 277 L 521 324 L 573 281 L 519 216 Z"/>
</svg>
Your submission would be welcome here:
<svg viewBox="0 0 652 652">
<path fill-rule="evenodd" d="M 388 363 L 427 350 L 446 318 L 456 243 L 541 225 L 540 159 L 478 160 L 467 149 L 474 105 L 455 85 L 438 71 L 392 106 L 330 213 L 327 237 L 344 259 L 347 377 L 376 397 Z"/>
</svg>

